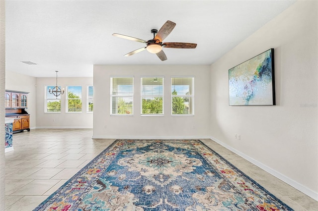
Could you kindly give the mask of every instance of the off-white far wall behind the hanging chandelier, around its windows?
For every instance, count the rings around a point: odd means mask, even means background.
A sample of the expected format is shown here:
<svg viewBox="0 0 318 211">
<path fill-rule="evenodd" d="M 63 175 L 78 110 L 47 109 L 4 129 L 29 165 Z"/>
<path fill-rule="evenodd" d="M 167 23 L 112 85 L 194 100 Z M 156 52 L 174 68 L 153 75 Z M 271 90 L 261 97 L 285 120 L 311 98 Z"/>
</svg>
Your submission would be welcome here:
<svg viewBox="0 0 318 211">
<path fill-rule="evenodd" d="M 87 86 L 93 85 L 93 78 L 60 78 L 58 86 L 82 87 L 82 112 L 66 113 L 66 93 L 61 95 L 61 113 L 44 113 L 44 87 L 55 86 L 56 78 L 36 78 L 36 128 L 92 128 L 93 114 L 86 112 Z"/>
</svg>

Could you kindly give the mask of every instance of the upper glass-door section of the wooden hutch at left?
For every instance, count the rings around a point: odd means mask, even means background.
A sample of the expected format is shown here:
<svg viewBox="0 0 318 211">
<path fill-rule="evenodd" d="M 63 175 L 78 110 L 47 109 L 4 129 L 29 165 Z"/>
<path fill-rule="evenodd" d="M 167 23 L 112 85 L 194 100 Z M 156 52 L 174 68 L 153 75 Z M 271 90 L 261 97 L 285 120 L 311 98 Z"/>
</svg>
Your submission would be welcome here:
<svg viewBox="0 0 318 211">
<path fill-rule="evenodd" d="M 5 108 L 27 108 L 28 92 L 5 90 Z"/>
</svg>

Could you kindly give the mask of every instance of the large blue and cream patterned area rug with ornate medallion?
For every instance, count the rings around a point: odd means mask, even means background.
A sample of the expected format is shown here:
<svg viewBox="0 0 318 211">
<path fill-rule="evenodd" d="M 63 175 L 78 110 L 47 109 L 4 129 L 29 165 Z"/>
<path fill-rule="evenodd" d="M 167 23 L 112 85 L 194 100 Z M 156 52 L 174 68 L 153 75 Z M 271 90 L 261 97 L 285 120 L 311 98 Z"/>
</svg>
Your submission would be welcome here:
<svg viewBox="0 0 318 211">
<path fill-rule="evenodd" d="M 199 140 L 116 140 L 34 211 L 292 211 Z"/>
</svg>

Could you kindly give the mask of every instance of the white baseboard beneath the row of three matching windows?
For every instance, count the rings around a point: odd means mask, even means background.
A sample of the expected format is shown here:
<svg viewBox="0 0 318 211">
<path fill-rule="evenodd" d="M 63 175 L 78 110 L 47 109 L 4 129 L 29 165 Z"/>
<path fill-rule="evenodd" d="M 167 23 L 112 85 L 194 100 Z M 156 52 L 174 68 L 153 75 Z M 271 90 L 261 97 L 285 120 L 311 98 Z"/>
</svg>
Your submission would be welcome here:
<svg viewBox="0 0 318 211">
<path fill-rule="evenodd" d="M 210 139 L 210 136 L 92 136 L 93 139 Z"/>
</svg>

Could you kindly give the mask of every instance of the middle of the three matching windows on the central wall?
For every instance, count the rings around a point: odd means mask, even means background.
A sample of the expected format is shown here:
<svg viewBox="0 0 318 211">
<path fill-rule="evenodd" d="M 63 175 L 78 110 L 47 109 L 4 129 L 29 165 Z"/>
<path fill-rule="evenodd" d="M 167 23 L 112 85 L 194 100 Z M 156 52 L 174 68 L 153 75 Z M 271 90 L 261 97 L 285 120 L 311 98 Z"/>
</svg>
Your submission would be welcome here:
<svg viewBox="0 0 318 211">
<path fill-rule="evenodd" d="M 141 114 L 163 115 L 163 77 L 141 78 Z"/>
</svg>

